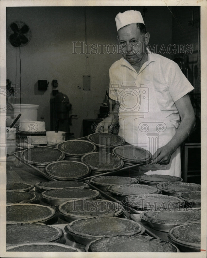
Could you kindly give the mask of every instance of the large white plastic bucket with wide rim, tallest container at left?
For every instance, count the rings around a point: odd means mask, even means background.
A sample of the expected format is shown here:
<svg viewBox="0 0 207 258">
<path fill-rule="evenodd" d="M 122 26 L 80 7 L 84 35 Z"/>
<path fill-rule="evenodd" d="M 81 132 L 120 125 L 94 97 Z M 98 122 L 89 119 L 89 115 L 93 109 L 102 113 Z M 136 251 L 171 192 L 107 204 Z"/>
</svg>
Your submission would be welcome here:
<svg viewBox="0 0 207 258">
<path fill-rule="evenodd" d="M 19 122 L 22 121 L 37 121 L 37 109 L 39 105 L 33 104 L 13 104 L 14 114 L 21 113 Z"/>
</svg>

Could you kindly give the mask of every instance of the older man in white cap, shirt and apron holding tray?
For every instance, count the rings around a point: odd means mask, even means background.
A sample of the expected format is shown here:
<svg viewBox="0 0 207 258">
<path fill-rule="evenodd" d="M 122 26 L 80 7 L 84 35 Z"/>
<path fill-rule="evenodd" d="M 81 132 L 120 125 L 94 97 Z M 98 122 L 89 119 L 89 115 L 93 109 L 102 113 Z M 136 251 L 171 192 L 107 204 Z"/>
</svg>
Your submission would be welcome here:
<svg viewBox="0 0 207 258">
<path fill-rule="evenodd" d="M 117 38 L 123 58 L 109 69 L 113 111 L 99 123 L 102 132 L 119 123 L 126 142 L 148 149 L 145 174 L 181 176 L 180 145 L 195 126 L 188 93 L 194 88 L 172 60 L 147 49 L 149 33 L 138 11 L 118 13 Z"/>
</svg>

